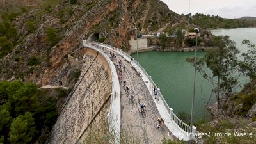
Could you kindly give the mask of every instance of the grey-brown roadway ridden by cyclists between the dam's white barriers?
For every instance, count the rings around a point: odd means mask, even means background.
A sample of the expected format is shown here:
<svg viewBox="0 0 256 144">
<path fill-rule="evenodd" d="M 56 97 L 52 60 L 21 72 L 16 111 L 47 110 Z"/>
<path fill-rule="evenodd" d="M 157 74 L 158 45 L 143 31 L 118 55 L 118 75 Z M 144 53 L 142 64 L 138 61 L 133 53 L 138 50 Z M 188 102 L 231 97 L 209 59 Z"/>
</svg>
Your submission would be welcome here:
<svg viewBox="0 0 256 144">
<path fill-rule="evenodd" d="M 125 93 L 122 83 L 120 83 L 121 131 L 125 136 L 131 135 L 134 137 L 134 140 L 140 140 L 139 143 L 159 144 L 161 140 L 163 140 L 164 135 L 166 138 L 170 138 L 168 136 L 169 131 L 167 127 L 164 126 L 164 132 L 154 127 L 154 121 L 156 121 L 157 117 L 160 115 L 143 79 L 141 79 L 138 72 L 132 67 L 131 63 L 118 54 L 116 54 L 116 58 L 117 61 L 122 60 L 122 64 L 125 65 L 125 72 L 122 69 L 123 77 L 130 88 L 129 92 L 135 95 L 134 104 L 129 104 L 129 98 Z M 117 65 L 117 61 L 113 60 L 113 63 Z M 140 104 L 145 104 L 146 106 L 145 118 L 143 118 L 138 111 Z"/>
</svg>

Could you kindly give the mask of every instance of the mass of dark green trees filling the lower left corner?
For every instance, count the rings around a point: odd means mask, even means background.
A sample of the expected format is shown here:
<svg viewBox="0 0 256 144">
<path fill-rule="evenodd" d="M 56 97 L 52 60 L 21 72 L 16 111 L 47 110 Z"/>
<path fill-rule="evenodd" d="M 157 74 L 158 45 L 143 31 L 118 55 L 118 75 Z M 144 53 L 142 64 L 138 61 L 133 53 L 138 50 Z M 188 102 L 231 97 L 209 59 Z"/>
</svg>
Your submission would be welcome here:
<svg viewBox="0 0 256 144">
<path fill-rule="evenodd" d="M 34 83 L 0 81 L 0 100 L 7 100 L 0 104 L 0 143 L 31 143 L 58 117 L 56 98 L 39 97 Z"/>
</svg>

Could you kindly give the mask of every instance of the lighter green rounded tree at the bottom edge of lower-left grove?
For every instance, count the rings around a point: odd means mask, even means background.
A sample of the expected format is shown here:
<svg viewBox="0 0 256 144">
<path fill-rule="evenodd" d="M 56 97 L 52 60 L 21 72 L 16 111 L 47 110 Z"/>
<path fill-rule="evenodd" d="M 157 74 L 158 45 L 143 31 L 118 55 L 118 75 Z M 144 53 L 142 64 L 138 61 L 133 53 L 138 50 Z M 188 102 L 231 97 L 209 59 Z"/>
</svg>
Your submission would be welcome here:
<svg viewBox="0 0 256 144">
<path fill-rule="evenodd" d="M 35 122 L 32 116 L 31 113 L 27 112 L 25 115 L 14 118 L 10 127 L 10 138 L 8 138 L 10 143 L 24 144 L 32 140 L 36 134 Z"/>
</svg>

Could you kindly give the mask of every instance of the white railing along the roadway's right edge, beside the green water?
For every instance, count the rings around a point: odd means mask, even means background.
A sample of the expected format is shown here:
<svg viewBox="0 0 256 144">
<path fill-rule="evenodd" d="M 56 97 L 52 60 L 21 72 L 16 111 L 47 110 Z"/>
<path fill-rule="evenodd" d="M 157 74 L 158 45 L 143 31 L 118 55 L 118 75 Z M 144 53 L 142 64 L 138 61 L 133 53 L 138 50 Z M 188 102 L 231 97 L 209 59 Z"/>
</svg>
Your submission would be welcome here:
<svg viewBox="0 0 256 144">
<path fill-rule="evenodd" d="M 114 50 L 115 47 L 111 46 L 111 45 L 106 45 L 106 44 L 99 44 L 98 45 L 104 46 L 110 50 Z M 116 52 L 120 52 L 121 54 L 124 54 L 125 56 L 127 56 L 129 59 L 131 59 L 131 56 L 129 54 L 127 54 L 126 52 L 122 51 L 120 49 L 120 51 L 116 51 Z M 145 74 L 145 76 L 147 76 L 147 78 L 150 80 L 150 86 L 156 86 L 156 84 L 154 83 L 153 79 L 151 76 L 148 75 L 148 73 L 145 71 L 145 68 L 141 67 L 140 63 L 136 60 L 134 60 L 134 63 L 136 63 L 137 68 L 140 68 L 140 70 Z M 157 88 L 157 87 L 156 87 Z M 151 92 L 150 92 L 151 93 Z M 151 93 L 152 94 L 152 93 Z M 158 93 L 159 98 L 163 101 L 164 107 L 167 109 L 168 113 L 170 113 L 169 117 L 172 120 L 172 122 L 177 126 L 177 128 L 180 129 L 180 131 L 186 133 L 187 135 L 192 134 L 192 136 L 195 136 L 195 133 L 198 133 L 198 131 L 196 131 L 196 127 L 193 126 L 192 132 L 191 132 L 191 128 L 188 124 L 186 124 L 185 122 L 183 122 L 182 120 L 180 120 L 180 118 L 175 115 L 175 113 L 173 113 L 173 109 L 170 108 L 170 106 L 168 106 L 166 100 L 164 99 L 162 93 L 159 91 Z M 196 137 L 193 137 L 195 140 L 197 139 Z"/>
</svg>

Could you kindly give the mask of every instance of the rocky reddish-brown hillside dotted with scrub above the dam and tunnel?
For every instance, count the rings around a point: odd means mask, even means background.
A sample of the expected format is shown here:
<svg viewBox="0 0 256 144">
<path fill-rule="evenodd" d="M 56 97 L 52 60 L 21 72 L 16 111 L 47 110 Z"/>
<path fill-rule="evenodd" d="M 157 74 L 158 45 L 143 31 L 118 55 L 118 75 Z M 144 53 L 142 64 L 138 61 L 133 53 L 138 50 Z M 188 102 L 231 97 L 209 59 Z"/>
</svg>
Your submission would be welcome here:
<svg viewBox="0 0 256 144">
<path fill-rule="evenodd" d="M 36 23 L 33 33 L 28 33 L 26 28 L 29 20 Z M 56 84 L 74 71 L 68 54 L 79 55 L 76 51 L 81 48 L 81 40 L 90 35 L 104 37 L 106 34 L 108 44 L 126 46 L 129 35 L 135 33 L 134 26 L 141 33 L 152 33 L 180 20 L 180 15 L 159 0 L 80 0 L 76 4 L 67 0 L 43 1 L 13 20 L 20 41 L 0 60 L 1 79 L 22 79 L 40 86 Z M 56 29 L 58 36 L 58 43 L 53 46 L 47 37 L 49 28 Z M 35 57 L 40 64 L 31 67 L 28 61 Z"/>
</svg>

